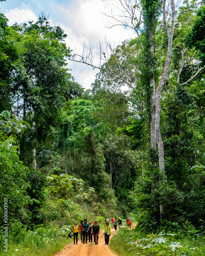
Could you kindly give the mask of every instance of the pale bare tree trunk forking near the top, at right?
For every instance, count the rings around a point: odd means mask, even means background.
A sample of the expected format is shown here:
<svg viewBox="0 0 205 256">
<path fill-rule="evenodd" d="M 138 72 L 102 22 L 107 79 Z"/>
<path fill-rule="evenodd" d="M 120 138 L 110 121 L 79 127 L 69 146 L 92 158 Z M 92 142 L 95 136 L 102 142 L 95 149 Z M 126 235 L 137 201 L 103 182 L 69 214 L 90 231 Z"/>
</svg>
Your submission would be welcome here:
<svg viewBox="0 0 205 256">
<path fill-rule="evenodd" d="M 156 141 L 158 145 L 158 161 L 159 161 L 159 168 L 160 172 L 164 174 L 165 171 L 165 157 L 164 157 L 164 144 L 160 132 L 160 113 L 161 113 L 161 92 L 165 85 L 165 81 L 167 79 L 167 75 L 169 72 L 169 66 L 171 61 L 172 55 L 172 41 L 173 41 L 173 34 L 174 34 L 174 24 L 175 24 L 175 4 L 174 0 L 171 0 L 171 9 L 172 9 L 172 20 L 171 20 L 171 28 L 168 29 L 167 22 L 166 22 L 166 0 L 163 0 L 163 21 L 165 30 L 168 36 L 168 51 L 167 51 L 167 58 L 165 62 L 164 72 L 162 74 L 161 80 L 157 86 L 156 94 L 155 94 L 155 131 L 156 131 Z M 160 180 L 160 186 L 162 186 L 162 180 Z M 163 205 L 160 205 L 160 214 L 161 220 L 163 215 Z"/>
</svg>

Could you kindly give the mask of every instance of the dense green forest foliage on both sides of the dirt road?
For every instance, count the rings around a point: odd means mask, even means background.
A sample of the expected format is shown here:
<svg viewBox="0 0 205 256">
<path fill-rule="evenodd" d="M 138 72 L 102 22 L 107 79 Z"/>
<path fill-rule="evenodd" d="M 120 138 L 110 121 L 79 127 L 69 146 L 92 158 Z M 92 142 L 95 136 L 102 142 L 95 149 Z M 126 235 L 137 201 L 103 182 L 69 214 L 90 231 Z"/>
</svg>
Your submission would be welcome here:
<svg viewBox="0 0 205 256">
<path fill-rule="evenodd" d="M 6 199 L 10 255 L 51 255 L 75 220 L 113 215 L 138 221 L 138 231 L 113 239 L 126 242 L 119 253 L 203 255 L 205 7 L 184 1 L 177 12 L 161 97 L 162 174 L 150 147 L 150 79 L 164 69 L 167 35 L 161 1 L 141 4 L 141 35 L 113 50 L 87 91 L 66 68 L 60 27 L 44 14 L 9 27 L 0 15 L 0 244 Z"/>
</svg>

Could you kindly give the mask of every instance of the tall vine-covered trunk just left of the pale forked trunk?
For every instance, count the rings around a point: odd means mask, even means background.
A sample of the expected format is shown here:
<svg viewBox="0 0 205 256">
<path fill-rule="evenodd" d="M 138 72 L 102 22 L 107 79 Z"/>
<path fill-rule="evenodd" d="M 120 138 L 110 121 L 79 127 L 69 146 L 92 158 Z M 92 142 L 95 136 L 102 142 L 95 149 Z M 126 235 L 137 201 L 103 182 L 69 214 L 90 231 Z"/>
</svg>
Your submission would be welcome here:
<svg viewBox="0 0 205 256">
<path fill-rule="evenodd" d="M 144 41 L 142 50 L 143 65 L 141 68 L 141 83 L 146 88 L 148 113 L 150 118 L 150 144 L 156 149 L 155 136 L 155 69 L 154 58 L 154 40 L 157 18 L 161 13 L 161 1 L 143 0 L 143 18 L 144 18 Z"/>
</svg>

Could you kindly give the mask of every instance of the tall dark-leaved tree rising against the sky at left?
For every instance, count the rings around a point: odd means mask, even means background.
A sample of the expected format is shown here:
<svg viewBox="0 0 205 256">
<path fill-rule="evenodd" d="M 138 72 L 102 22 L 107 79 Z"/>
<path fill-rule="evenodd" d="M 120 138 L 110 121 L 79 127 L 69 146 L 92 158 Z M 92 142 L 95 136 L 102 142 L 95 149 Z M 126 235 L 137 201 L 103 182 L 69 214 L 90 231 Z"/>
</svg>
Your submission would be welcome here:
<svg viewBox="0 0 205 256">
<path fill-rule="evenodd" d="M 66 34 L 60 27 L 51 27 L 44 14 L 36 23 L 15 24 L 9 31 L 14 46 L 21 49 L 10 73 L 10 94 L 14 99 L 11 109 L 32 124 L 33 129 L 20 139 L 20 157 L 30 164 L 32 150 L 38 150 L 37 146 L 58 125 L 62 106 L 80 95 L 82 88 L 66 68 L 70 56 L 64 43 Z"/>
</svg>

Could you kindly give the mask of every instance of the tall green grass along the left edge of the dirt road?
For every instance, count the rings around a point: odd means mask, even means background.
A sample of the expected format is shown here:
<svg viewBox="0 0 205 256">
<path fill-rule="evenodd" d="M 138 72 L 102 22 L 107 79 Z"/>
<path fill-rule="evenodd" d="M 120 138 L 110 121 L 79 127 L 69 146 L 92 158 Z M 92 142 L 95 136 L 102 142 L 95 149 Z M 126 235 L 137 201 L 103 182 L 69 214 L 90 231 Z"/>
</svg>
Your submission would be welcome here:
<svg viewBox="0 0 205 256">
<path fill-rule="evenodd" d="M 79 219 L 83 219 L 82 216 Z M 97 216 L 95 219 L 99 221 L 100 229 L 103 230 L 102 222 L 104 218 Z M 73 239 L 67 237 L 67 234 L 72 231 L 71 220 L 67 221 L 67 225 L 62 226 L 60 224 L 59 220 L 59 223 L 52 222 L 46 225 L 38 225 L 35 230 L 31 231 L 27 230 L 26 227 L 22 227 L 19 221 L 14 221 L 10 225 L 10 230 L 12 231 L 9 233 L 8 251 L 5 251 L 4 248 L 4 230 L 0 228 L 0 255 L 53 256 L 64 245 L 73 242 Z"/>
</svg>

